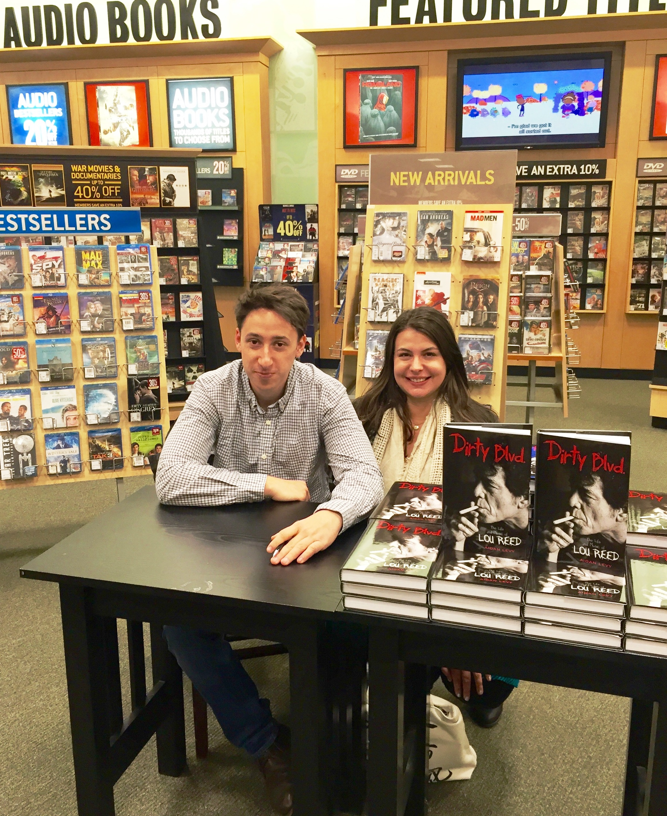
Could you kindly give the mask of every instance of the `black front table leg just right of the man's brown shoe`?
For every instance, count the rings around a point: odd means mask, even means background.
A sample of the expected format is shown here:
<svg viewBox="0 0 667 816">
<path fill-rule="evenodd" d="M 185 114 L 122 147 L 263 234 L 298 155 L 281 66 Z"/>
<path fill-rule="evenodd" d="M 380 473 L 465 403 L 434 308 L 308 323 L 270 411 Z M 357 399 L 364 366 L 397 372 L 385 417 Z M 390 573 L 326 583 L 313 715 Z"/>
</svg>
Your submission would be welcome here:
<svg viewBox="0 0 667 816">
<path fill-rule="evenodd" d="M 300 626 L 287 642 L 290 654 L 291 774 L 294 816 L 327 816 L 331 751 L 327 741 L 323 632 Z"/>
</svg>

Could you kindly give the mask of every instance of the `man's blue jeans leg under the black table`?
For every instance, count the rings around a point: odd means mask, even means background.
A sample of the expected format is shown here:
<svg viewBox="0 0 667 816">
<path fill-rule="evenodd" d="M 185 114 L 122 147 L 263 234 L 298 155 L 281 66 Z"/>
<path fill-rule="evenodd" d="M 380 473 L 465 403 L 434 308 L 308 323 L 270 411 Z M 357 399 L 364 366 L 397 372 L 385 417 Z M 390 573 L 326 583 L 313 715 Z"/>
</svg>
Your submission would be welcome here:
<svg viewBox="0 0 667 816">
<path fill-rule="evenodd" d="M 169 651 L 211 706 L 229 739 L 251 756 L 261 756 L 273 744 L 278 723 L 269 700 L 260 698 L 232 647 L 222 635 L 185 626 L 166 626 Z"/>
</svg>

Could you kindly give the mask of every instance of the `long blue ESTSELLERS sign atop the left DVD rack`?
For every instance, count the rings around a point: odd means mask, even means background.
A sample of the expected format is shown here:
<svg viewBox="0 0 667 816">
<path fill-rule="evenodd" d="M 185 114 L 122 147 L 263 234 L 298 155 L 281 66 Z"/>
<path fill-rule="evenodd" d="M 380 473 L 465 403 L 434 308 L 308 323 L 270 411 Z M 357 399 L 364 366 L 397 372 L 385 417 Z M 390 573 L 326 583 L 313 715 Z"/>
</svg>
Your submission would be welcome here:
<svg viewBox="0 0 667 816">
<path fill-rule="evenodd" d="M 139 207 L 87 210 L 84 207 L 14 207 L 0 211 L 4 235 L 140 235 Z"/>
</svg>

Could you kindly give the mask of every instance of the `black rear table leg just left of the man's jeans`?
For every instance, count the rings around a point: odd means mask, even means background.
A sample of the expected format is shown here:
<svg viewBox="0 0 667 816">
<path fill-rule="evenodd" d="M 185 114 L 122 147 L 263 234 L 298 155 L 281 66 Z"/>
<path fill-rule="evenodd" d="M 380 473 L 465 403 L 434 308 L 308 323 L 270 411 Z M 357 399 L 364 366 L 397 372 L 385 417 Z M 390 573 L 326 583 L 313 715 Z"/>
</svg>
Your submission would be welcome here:
<svg viewBox="0 0 667 816">
<path fill-rule="evenodd" d="M 170 690 L 169 714 L 155 732 L 158 771 L 165 776 L 180 776 L 187 765 L 185 754 L 185 711 L 183 708 L 183 672 L 167 649 L 162 625 L 150 624 L 150 651 L 153 686 L 164 681 Z"/>
</svg>

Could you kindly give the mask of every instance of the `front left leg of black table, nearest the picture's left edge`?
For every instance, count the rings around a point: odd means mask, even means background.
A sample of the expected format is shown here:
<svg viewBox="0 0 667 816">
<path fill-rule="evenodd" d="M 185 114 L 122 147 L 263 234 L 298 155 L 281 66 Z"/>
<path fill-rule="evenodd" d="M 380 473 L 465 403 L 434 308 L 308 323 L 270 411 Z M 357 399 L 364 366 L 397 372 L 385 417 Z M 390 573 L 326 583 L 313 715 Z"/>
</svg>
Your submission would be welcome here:
<svg viewBox="0 0 667 816">
<path fill-rule="evenodd" d="M 78 816 L 113 816 L 104 650 L 108 624 L 92 613 L 86 589 L 67 584 L 60 584 L 60 614 Z"/>
</svg>

